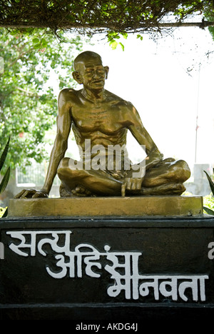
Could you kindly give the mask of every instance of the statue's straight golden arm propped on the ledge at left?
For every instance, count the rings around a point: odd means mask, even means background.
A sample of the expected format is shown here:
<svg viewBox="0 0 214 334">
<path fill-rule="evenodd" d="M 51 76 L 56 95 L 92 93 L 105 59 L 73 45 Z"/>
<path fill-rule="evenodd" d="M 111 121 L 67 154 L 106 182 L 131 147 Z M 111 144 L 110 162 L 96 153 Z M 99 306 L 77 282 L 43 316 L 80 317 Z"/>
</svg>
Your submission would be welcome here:
<svg viewBox="0 0 214 334">
<path fill-rule="evenodd" d="M 54 146 L 51 151 L 49 168 L 46 174 L 44 186 L 40 191 L 34 189 L 24 189 L 15 198 L 26 197 L 48 197 L 51 186 L 56 176 L 58 165 L 66 153 L 68 147 L 68 136 L 71 131 L 71 113 L 70 106 L 66 98 L 66 91 L 61 91 L 58 96 L 58 116 L 57 116 L 57 133 Z"/>
</svg>

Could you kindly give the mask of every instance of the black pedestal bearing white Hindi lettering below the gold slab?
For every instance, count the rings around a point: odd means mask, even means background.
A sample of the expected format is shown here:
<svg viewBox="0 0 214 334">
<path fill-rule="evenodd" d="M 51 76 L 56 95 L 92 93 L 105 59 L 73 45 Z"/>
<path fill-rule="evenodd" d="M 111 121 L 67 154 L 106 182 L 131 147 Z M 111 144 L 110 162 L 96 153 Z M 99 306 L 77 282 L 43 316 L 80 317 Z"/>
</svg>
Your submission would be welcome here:
<svg viewBox="0 0 214 334">
<path fill-rule="evenodd" d="M 1 219 L 1 320 L 214 314 L 214 218 Z"/>
</svg>

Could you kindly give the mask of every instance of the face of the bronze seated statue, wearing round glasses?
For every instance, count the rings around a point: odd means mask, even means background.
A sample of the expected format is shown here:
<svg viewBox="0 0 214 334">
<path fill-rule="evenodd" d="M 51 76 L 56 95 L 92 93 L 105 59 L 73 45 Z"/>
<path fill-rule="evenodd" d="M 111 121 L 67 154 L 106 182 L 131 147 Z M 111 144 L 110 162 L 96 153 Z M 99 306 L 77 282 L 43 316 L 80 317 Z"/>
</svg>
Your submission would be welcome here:
<svg viewBox="0 0 214 334">
<path fill-rule="evenodd" d="M 78 63 L 78 83 L 83 83 L 84 88 L 101 90 L 105 85 L 108 67 L 103 67 L 101 58 L 85 59 Z"/>
</svg>

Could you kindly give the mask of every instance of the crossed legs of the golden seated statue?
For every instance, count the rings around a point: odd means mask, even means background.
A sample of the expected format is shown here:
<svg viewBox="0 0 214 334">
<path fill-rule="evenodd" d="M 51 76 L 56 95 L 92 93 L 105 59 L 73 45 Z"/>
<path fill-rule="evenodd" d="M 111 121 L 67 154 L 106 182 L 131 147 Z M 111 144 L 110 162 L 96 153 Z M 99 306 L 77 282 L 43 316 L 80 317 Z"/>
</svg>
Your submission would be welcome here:
<svg viewBox="0 0 214 334">
<path fill-rule="evenodd" d="M 68 196 L 121 196 L 121 188 L 130 177 L 127 172 L 116 174 L 108 171 L 71 168 L 71 158 L 63 158 L 58 166 L 61 180 L 60 195 Z M 129 174 L 131 171 L 129 171 Z M 141 181 L 140 189 L 132 184 L 126 186 L 128 196 L 181 195 L 185 191 L 183 183 L 190 177 L 190 168 L 183 160 L 167 158 L 148 169 Z"/>
</svg>

